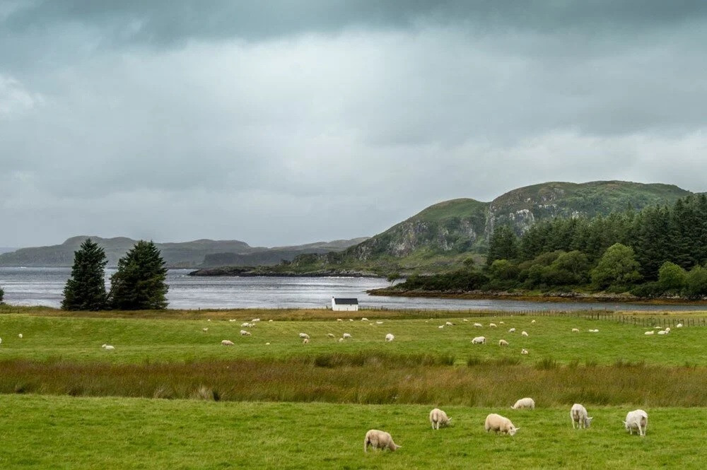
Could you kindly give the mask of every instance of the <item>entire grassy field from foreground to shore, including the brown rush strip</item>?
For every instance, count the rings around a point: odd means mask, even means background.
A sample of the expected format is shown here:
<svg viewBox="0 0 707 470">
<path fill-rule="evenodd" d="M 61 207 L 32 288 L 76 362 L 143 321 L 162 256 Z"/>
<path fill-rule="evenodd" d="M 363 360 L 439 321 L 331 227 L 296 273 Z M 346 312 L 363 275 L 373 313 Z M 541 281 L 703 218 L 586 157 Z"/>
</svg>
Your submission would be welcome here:
<svg viewBox="0 0 707 470">
<path fill-rule="evenodd" d="M 645 336 L 577 317 L 326 315 L 2 308 L 0 469 L 704 467 L 706 327 Z M 252 336 L 240 336 L 253 317 Z M 522 396 L 537 409 L 510 410 Z M 589 430 L 572 429 L 575 402 L 595 417 Z M 452 428 L 431 430 L 434 406 Z M 636 408 L 649 414 L 643 438 L 621 424 Z M 485 433 L 491 412 L 518 434 Z M 402 449 L 364 454 L 370 428 Z"/>
</svg>

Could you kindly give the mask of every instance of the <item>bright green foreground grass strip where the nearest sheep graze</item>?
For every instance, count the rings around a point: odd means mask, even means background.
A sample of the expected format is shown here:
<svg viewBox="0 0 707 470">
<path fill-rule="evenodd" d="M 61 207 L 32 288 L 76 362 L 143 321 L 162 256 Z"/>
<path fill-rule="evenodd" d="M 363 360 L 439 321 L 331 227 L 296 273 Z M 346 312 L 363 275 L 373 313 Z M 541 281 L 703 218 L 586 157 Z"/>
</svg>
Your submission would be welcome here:
<svg viewBox="0 0 707 470">
<path fill-rule="evenodd" d="M 4 469 L 646 469 L 704 467 L 707 409 L 647 409 L 646 437 L 621 424 L 629 408 L 590 407 L 573 430 L 569 407 L 535 411 L 0 395 Z M 486 433 L 487 413 L 520 427 Z M 686 419 L 689 416 L 689 419 Z M 363 453 L 363 435 L 389 431 L 402 449 Z"/>
</svg>

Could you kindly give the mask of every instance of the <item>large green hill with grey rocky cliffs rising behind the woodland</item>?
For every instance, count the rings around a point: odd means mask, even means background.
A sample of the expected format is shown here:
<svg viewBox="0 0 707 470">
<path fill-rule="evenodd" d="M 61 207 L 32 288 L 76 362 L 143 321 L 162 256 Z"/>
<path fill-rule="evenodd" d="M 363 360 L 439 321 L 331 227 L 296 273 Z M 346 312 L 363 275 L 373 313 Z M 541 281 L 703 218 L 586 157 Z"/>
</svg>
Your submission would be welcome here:
<svg viewBox="0 0 707 470">
<path fill-rule="evenodd" d="M 497 225 L 510 225 L 520 235 L 530 225 L 550 218 L 608 215 L 629 208 L 639 211 L 645 206 L 672 204 L 689 194 L 671 184 L 548 182 L 513 189 L 491 202 L 452 199 L 342 252 L 298 257 L 290 269 L 444 271 L 469 257 L 480 260 Z"/>
</svg>

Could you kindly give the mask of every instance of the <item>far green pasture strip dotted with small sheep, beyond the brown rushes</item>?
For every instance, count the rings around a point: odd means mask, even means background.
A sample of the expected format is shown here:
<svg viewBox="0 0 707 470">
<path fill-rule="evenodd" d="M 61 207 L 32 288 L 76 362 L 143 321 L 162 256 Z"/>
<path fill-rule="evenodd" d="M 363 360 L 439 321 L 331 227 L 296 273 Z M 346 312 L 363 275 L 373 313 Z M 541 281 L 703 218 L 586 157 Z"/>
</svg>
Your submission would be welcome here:
<svg viewBox="0 0 707 470">
<path fill-rule="evenodd" d="M 222 312 L 223 313 L 223 312 Z M 532 324 L 530 316 L 460 317 L 429 319 L 397 319 L 377 312 L 361 312 L 355 321 L 346 319 L 283 321 L 277 312 L 250 312 L 263 320 L 252 331 L 252 336 L 240 336 L 243 315 L 236 319 L 227 313 L 219 317 L 200 319 L 62 317 L 31 315 L 28 313 L 0 315 L 0 360 L 64 360 L 71 362 L 107 362 L 135 364 L 155 362 L 185 362 L 201 360 L 232 360 L 243 358 L 312 357 L 321 354 L 378 354 L 394 356 L 428 356 L 452 358 L 458 365 L 471 361 L 508 360 L 521 365 L 536 365 L 541 360 L 561 364 L 614 364 L 617 361 L 648 365 L 707 366 L 705 327 L 673 329 L 666 336 L 645 336 L 650 328 L 578 317 L 538 317 Z M 318 314 L 317 314 L 318 315 Z M 333 315 L 333 314 L 330 314 Z M 362 322 L 366 315 L 370 321 Z M 229 319 L 236 319 L 234 322 Z M 382 322 L 377 324 L 376 322 Z M 454 327 L 439 329 L 446 321 Z M 484 324 L 474 328 L 473 323 Z M 497 328 L 488 324 L 494 322 Z M 505 324 L 501 324 L 504 322 Z M 515 333 L 508 333 L 515 327 Z M 208 328 L 204 332 L 202 329 Z M 580 329 L 572 333 L 572 328 Z M 599 333 L 589 333 L 589 329 Z M 530 336 L 520 336 L 525 330 Z M 303 345 L 300 332 L 311 336 Z M 339 343 L 344 333 L 351 340 Z M 23 339 L 18 334 L 23 334 Z M 328 333 L 335 338 L 327 337 Z M 385 343 L 385 334 L 395 335 L 395 341 Z M 486 345 L 472 345 L 474 336 L 486 336 Z M 235 342 L 233 347 L 221 346 L 222 339 Z M 498 346 L 499 339 L 510 343 L 508 348 Z M 103 343 L 115 346 L 107 353 Z M 266 343 L 270 343 L 267 345 Z M 520 356 L 521 348 L 530 351 Z"/>
</svg>

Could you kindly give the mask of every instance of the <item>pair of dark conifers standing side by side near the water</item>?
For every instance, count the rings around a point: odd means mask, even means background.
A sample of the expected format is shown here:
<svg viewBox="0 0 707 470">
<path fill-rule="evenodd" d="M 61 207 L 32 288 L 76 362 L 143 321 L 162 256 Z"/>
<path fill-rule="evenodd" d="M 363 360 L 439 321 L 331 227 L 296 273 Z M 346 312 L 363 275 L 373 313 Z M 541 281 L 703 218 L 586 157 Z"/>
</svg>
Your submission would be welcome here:
<svg viewBox="0 0 707 470">
<path fill-rule="evenodd" d="M 100 245 L 87 238 L 74 252 L 71 277 L 64 286 L 64 310 L 163 310 L 167 308 L 167 269 L 153 242 L 141 240 L 118 260 L 105 290 L 108 260 Z"/>
</svg>

